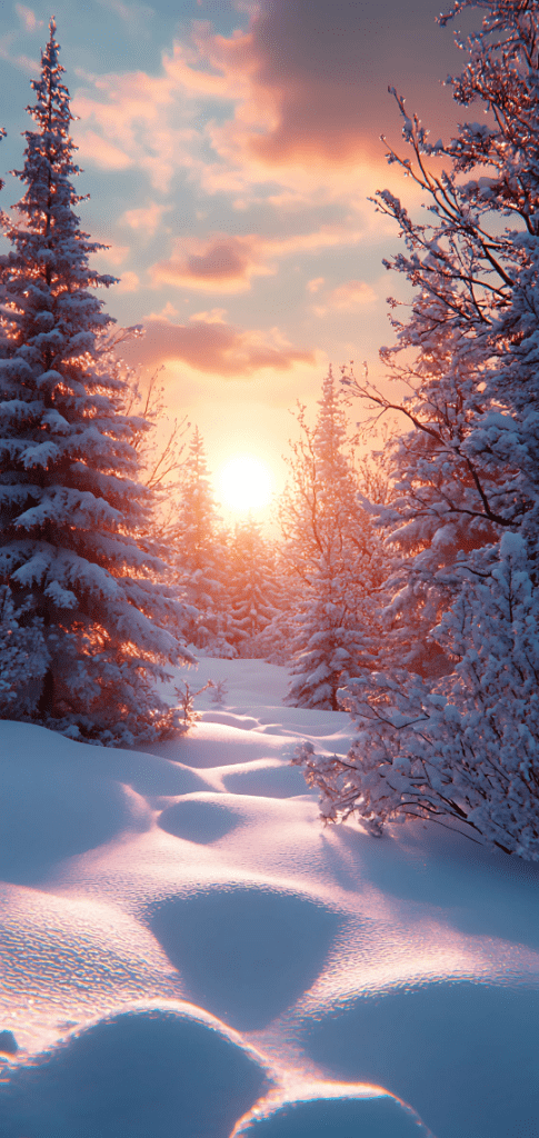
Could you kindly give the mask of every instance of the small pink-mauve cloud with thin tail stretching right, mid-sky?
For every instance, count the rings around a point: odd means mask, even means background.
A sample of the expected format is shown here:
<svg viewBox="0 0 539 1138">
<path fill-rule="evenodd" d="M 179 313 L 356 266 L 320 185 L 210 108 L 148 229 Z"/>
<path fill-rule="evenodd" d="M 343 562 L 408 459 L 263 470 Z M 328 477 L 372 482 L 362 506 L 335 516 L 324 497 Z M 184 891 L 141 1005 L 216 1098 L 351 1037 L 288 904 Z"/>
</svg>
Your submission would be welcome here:
<svg viewBox="0 0 539 1138">
<path fill-rule="evenodd" d="M 364 230 L 339 224 L 321 225 L 310 233 L 290 233 L 283 237 L 214 233 L 204 240 L 179 238 L 174 242 L 172 256 L 152 265 L 150 277 L 156 287 L 172 284 L 174 288 L 200 289 L 205 292 L 243 292 L 250 287 L 251 277 L 275 273 L 276 263 L 282 257 L 317 253 L 338 246 L 348 247 L 363 236 Z"/>
</svg>

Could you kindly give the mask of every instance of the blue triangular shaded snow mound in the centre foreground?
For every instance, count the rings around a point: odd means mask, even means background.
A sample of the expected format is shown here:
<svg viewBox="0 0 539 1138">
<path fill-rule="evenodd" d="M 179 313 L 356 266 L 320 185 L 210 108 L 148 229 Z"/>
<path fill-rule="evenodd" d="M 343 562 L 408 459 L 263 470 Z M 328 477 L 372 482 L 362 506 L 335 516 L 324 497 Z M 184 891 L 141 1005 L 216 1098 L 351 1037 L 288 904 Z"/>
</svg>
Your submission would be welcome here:
<svg viewBox="0 0 539 1138">
<path fill-rule="evenodd" d="M 316 980 L 340 917 L 309 897 L 249 884 L 169 897 L 148 924 L 193 1003 L 255 1031 Z"/>
</svg>

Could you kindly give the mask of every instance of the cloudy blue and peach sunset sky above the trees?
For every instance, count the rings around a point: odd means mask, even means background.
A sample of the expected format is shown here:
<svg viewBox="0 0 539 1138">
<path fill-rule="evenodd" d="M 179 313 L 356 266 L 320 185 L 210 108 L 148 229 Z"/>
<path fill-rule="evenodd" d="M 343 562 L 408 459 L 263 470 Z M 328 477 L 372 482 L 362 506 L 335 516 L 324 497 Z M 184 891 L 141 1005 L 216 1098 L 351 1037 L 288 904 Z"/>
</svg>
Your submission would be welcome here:
<svg viewBox="0 0 539 1138">
<path fill-rule="evenodd" d="M 368 198 L 388 187 L 414 204 L 380 141 L 404 145 L 388 84 L 433 140 L 457 122 L 443 80 L 465 57 L 439 11 L 439 0 L 55 0 L 77 191 L 90 193 L 80 215 L 109 246 L 96 266 L 121 278 L 106 310 L 144 325 L 128 362 L 143 379 L 164 365 L 169 414 L 198 424 L 216 476 L 250 454 L 279 488 L 296 402 L 314 415 L 330 364 L 366 360 L 378 373 L 399 290 L 382 258 L 398 239 Z M 2 175 L 22 165 L 50 16 L 44 2 L 0 0 Z M 19 197 L 7 178 L 0 204 Z"/>
</svg>

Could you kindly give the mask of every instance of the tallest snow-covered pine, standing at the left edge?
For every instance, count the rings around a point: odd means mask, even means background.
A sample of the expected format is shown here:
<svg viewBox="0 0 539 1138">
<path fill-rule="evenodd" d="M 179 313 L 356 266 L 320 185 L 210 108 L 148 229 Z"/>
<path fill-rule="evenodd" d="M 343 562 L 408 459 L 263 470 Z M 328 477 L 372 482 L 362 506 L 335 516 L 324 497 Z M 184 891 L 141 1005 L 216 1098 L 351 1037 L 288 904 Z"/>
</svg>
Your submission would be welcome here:
<svg viewBox="0 0 539 1138">
<path fill-rule="evenodd" d="M 142 421 L 121 413 L 121 369 L 102 349 L 111 319 L 92 290 L 114 278 L 89 267 L 101 246 L 73 208 L 82 198 L 55 31 L 51 20 L 28 108 L 36 130 L 16 172 L 20 220 L 3 218 L 11 248 L 0 259 L 0 585 L 17 642 L 2 681 L 20 694 L 20 652 L 33 669 L 22 702 L 5 706 L 74 737 L 131 743 L 172 726 L 155 681 L 190 658 L 160 627 L 179 607 L 138 543 Z"/>
</svg>

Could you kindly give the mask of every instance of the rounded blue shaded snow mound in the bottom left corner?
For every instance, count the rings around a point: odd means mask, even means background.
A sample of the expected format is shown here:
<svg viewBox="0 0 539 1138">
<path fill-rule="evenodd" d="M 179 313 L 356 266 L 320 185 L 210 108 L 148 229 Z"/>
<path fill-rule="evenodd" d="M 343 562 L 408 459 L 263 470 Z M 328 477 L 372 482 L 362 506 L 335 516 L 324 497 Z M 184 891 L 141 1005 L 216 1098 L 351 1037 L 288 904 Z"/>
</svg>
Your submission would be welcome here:
<svg viewBox="0 0 539 1138">
<path fill-rule="evenodd" d="M 198 1008 L 133 1009 L 73 1034 L 0 1088 L 0 1138 L 229 1138 L 270 1080 Z"/>
</svg>

